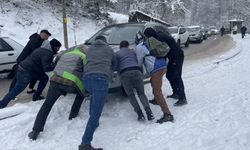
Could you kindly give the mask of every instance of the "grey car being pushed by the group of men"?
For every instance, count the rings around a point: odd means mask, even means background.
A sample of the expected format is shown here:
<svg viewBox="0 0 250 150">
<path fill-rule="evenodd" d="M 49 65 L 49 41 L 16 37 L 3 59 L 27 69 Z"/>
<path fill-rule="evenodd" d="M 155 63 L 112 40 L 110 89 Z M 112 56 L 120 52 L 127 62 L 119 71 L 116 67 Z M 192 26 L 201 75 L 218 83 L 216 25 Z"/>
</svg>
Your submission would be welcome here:
<svg viewBox="0 0 250 150">
<path fill-rule="evenodd" d="M 143 32 L 147 27 L 151 27 L 155 29 L 157 32 L 167 32 L 167 26 L 165 24 L 160 24 L 156 22 L 148 22 L 148 23 L 123 23 L 123 24 L 115 24 L 102 28 L 96 34 L 94 34 L 90 39 L 85 41 L 85 45 L 88 47 L 94 41 L 95 38 L 99 35 L 106 37 L 107 43 L 114 49 L 114 51 L 119 50 L 119 44 L 123 40 L 127 40 L 130 44 L 130 48 L 135 49 L 135 35 L 137 32 Z M 149 81 L 149 75 L 146 74 L 145 68 L 143 68 L 145 82 Z M 113 79 L 109 84 L 110 91 L 120 88 L 121 82 L 119 76 L 115 72 L 113 75 Z"/>
</svg>

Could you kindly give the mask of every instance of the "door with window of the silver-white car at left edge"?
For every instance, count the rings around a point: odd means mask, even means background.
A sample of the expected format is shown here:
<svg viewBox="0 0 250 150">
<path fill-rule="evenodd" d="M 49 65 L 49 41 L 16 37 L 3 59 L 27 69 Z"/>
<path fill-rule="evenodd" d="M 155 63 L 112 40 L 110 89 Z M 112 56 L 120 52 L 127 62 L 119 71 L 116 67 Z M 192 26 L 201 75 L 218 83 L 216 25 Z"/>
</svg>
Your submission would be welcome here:
<svg viewBox="0 0 250 150">
<path fill-rule="evenodd" d="M 0 38 L 0 72 L 11 70 L 15 62 L 14 49 L 3 38 Z"/>
</svg>

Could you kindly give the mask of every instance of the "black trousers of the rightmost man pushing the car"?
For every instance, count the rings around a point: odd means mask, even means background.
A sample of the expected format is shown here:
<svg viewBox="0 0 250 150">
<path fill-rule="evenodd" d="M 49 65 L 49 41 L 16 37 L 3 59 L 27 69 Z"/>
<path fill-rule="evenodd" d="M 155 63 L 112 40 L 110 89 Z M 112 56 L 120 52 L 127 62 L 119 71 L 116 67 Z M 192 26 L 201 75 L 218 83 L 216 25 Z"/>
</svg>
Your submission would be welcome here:
<svg viewBox="0 0 250 150">
<path fill-rule="evenodd" d="M 186 99 L 184 83 L 182 80 L 182 65 L 184 56 L 180 55 L 175 62 L 169 61 L 166 77 L 172 87 L 173 94 L 177 94 L 180 99 Z"/>
</svg>

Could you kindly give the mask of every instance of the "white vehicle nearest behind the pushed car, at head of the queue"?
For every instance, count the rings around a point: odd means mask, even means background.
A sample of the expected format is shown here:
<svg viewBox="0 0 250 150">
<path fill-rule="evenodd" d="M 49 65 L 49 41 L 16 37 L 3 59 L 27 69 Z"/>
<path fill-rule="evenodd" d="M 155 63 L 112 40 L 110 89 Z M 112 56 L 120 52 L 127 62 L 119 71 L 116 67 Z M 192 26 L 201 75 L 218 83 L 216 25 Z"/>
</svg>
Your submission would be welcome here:
<svg viewBox="0 0 250 150">
<path fill-rule="evenodd" d="M 168 32 L 172 35 L 172 37 L 179 45 L 184 44 L 185 47 L 189 46 L 189 34 L 185 29 L 185 27 L 180 27 L 180 26 L 168 27 Z"/>
</svg>

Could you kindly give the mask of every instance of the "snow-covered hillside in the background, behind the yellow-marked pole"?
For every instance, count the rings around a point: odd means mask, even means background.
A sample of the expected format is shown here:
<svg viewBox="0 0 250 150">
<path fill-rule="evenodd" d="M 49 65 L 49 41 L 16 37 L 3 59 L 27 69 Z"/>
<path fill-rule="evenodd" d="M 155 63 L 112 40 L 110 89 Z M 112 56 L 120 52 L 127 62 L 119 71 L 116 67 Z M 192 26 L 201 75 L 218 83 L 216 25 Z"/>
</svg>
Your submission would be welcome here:
<svg viewBox="0 0 250 150">
<path fill-rule="evenodd" d="M 25 45 L 29 36 L 42 29 L 48 29 L 52 36 L 63 43 L 62 13 L 58 7 L 42 3 L 39 1 L 18 1 L 12 3 L 1 3 L 0 12 L 0 36 L 8 36 L 20 44 Z M 18 5 L 18 7 L 16 6 Z M 117 22 L 127 22 L 128 16 L 110 12 L 110 17 Z M 68 38 L 69 46 L 83 43 L 97 30 L 103 27 L 95 20 L 87 19 L 82 16 L 68 17 Z M 122 19 L 119 19 L 122 18 Z M 64 49 L 62 47 L 62 49 Z"/>
</svg>

